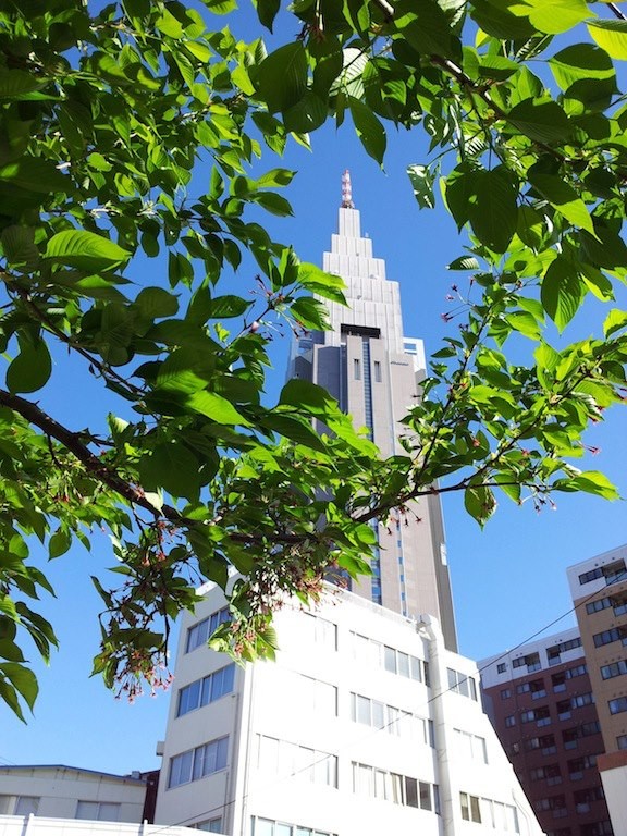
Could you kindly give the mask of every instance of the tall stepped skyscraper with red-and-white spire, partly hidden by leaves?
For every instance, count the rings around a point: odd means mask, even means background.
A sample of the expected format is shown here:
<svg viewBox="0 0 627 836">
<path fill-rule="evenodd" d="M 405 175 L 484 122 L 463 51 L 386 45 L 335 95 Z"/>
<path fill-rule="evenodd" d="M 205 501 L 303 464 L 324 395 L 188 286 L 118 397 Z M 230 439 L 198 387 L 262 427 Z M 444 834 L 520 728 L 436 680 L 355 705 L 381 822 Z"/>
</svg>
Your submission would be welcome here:
<svg viewBox="0 0 627 836">
<path fill-rule="evenodd" d="M 361 234 L 347 171 L 337 229 L 323 269 L 344 280 L 348 307 L 325 302 L 332 329 L 297 341 L 290 376 L 324 386 L 357 427 L 367 428 L 383 456 L 403 454 L 399 421 L 419 397 L 425 351 L 421 340 L 403 333 L 398 282 L 386 279 L 385 261 L 373 257 L 371 239 Z M 378 526 L 372 577 L 351 589 L 402 615 L 435 615 L 446 647 L 456 650 L 440 499 L 410 505 L 405 516 Z"/>
</svg>

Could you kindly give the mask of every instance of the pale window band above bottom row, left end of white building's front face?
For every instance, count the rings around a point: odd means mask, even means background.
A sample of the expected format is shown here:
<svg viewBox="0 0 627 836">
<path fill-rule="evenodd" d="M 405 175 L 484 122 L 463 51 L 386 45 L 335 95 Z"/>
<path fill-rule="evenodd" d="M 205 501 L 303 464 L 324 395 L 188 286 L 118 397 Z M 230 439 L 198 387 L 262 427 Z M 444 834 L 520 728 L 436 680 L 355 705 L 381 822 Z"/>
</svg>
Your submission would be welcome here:
<svg viewBox="0 0 627 836">
<path fill-rule="evenodd" d="M 260 772 L 304 783 L 337 787 L 337 757 L 275 737 L 257 735 Z"/>
</svg>

